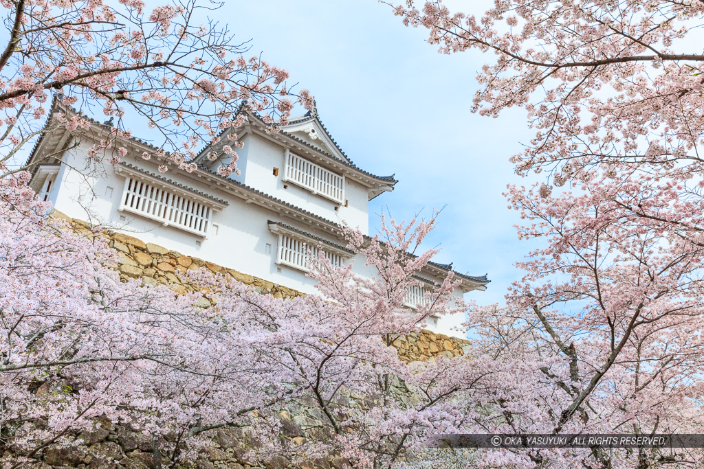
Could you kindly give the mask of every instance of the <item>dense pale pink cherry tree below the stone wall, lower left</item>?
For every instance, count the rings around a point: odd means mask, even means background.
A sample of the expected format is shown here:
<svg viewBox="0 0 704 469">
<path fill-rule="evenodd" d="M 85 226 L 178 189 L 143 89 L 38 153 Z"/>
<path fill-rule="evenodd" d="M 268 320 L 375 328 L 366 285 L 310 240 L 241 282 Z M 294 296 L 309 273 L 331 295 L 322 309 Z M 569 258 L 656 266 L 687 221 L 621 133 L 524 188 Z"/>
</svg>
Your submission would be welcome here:
<svg viewBox="0 0 704 469">
<path fill-rule="evenodd" d="M 131 425 L 175 465 L 208 441 L 207 430 L 244 424 L 270 404 L 256 383 L 276 381 L 248 365 L 256 361 L 241 335 L 256 331 L 238 311 L 195 307 L 199 293 L 121 282 L 99 228 L 83 235 L 46 217 L 26 179 L 0 186 L 4 467 L 27 467 L 49 447 L 85 449 L 90 436 L 77 432 L 98 431 L 101 419 Z"/>
</svg>

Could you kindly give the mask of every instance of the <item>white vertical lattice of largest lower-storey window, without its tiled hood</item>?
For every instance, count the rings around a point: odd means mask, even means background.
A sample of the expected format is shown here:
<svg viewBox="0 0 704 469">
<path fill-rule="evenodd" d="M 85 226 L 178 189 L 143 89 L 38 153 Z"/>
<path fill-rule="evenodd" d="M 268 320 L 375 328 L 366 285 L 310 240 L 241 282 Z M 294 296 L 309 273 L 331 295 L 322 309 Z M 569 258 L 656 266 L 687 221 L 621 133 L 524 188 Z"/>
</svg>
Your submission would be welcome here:
<svg viewBox="0 0 704 469">
<path fill-rule="evenodd" d="M 132 177 L 125 180 L 120 210 L 201 236 L 208 234 L 212 214 L 208 205 Z"/>
</svg>

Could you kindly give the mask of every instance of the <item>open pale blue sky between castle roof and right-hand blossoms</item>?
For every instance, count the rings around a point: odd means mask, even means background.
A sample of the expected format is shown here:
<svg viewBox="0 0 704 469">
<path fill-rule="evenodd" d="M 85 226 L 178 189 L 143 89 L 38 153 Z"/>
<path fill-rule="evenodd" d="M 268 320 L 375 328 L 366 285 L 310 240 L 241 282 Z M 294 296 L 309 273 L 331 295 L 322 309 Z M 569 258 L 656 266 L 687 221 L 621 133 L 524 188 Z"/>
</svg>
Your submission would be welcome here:
<svg viewBox="0 0 704 469">
<path fill-rule="evenodd" d="M 394 192 L 371 202 L 372 227 L 382 210 L 408 220 L 446 205 L 427 247 L 439 245 L 437 262 L 489 274 L 486 292 L 467 299 L 503 302 L 528 245 L 517 240 L 519 217 L 501 193 L 519 182 L 508 158 L 531 133 L 522 110 L 498 119 L 470 113 L 474 77 L 491 57 L 441 55 L 425 30 L 404 27 L 374 0 L 228 1 L 218 19 L 310 89 L 322 122 L 357 165 L 396 174 Z"/>
</svg>

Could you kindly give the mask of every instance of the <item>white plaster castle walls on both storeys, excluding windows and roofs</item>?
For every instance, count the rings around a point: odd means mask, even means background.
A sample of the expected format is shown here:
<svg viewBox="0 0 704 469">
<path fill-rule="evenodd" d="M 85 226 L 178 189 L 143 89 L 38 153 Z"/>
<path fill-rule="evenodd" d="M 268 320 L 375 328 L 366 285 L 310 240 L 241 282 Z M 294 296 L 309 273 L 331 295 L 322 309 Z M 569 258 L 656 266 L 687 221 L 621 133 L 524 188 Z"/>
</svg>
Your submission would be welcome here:
<svg viewBox="0 0 704 469">
<path fill-rule="evenodd" d="M 282 217 L 277 212 L 256 203 L 246 203 L 242 198 L 213 188 L 203 181 L 189 176 L 178 176 L 167 172 L 163 176 L 178 178 L 181 184 L 190 186 L 216 198 L 227 200 L 230 204 L 220 212 L 213 214 L 213 228 L 207 238 L 202 238 L 172 226 L 163 226 L 129 212 L 120 212 L 120 198 L 125 177 L 115 173 L 113 165 L 87 167 L 86 152 L 89 143 L 69 150 L 63 155 L 64 165 L 58 174 L 58 184 L 52 193 L 52 200 L 57 210 L 69 217 L 83 219 L 92 224 L 102 224 L 143 240 L 145 243 L 163 245 L 184 255 L 200 257 L 231 269 L 258 276 L 265 280 L 285 285 L 303 293 L 316 293 L 314 281 L 303 271 L 289 266 L 276 264 L 278 236 L 268 229 L 268 220 L 280 221 L 294 226 L 312 235 L 327 239 L 337 245 L 344 244 L 327 233 L 313 229 L 301 221 Z M 246 158 L 243 174 L 237 179 L 259 191 L 273 195 L 303 210 L 308 210 L 320 217 L 338 224 L 347 221 L 363 232 L 368 229 L 367 189 L 354 181 L 347 181 L 346 195 L 348 207 L 334 210 L 335 204 L 317 195 L 313 195 L 294 184 L 283 188 L 284 150 L 266 139 L 250 136 L 243 152 Z M 253 158 L 256 155 L 256 158 Z M 157 173 L 156 165 L 141 158 L 124 159 L 131 165 Z M 272 174 L 272 168 L 279 167 L 279 176 Z M 86 175 L 88 174 L 88 176 Z M 358 256 L 353 259 L 354 271 L 363 276 L 372 272 L 364 266 L 365 259 Z M 455 295 L 462 296 L 459 289 Z M 443 316 L 437 323 L 430 323 L 428 328 L 437 333 L 463 337 L 454 330 L 464 321 L 463 317 Z"/>
</svg>

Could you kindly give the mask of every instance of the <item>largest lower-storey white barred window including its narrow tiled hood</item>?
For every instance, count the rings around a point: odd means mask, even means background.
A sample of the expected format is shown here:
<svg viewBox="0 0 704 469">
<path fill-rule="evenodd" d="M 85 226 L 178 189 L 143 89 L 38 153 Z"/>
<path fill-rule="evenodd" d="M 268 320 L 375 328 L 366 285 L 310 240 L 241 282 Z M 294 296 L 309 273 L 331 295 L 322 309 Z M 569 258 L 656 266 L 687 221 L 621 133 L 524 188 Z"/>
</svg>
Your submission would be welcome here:
<svg viewBox="0 0 704 469">
<path fill-rule="evenodd" d="M 207 238 L 213 225 L 213 212 L 225 208 L 215 200 L 136 169 L 118 166 L 116 172 L 125 176 L 118 207 L 120 212 L 134 213 L 158 221 L 163 226 L 173 226 Z"/>
</svg>

